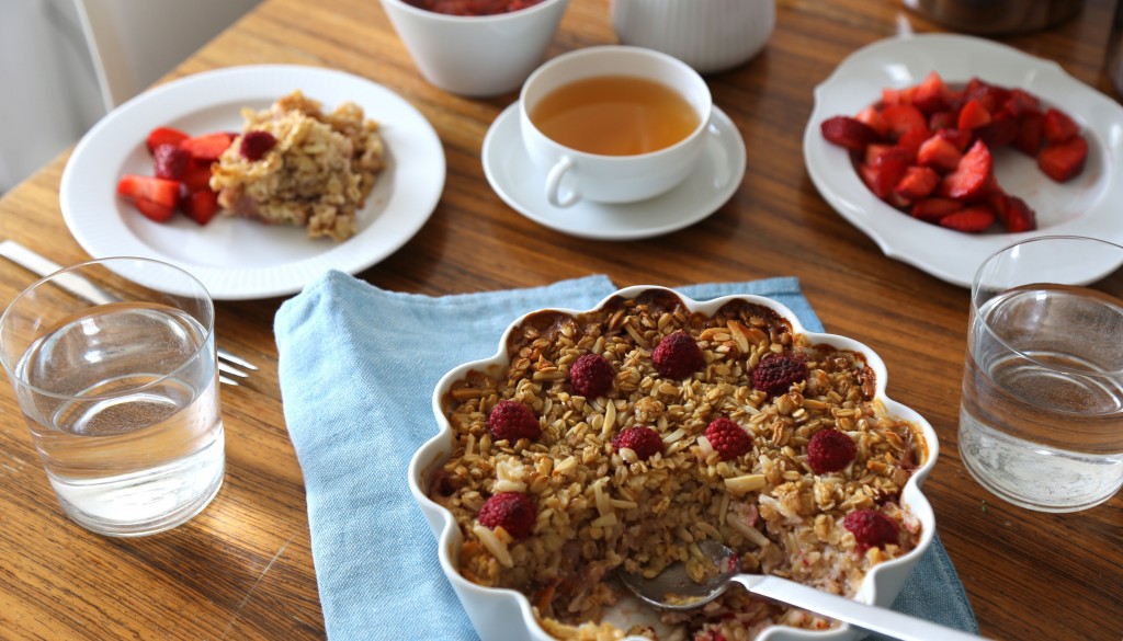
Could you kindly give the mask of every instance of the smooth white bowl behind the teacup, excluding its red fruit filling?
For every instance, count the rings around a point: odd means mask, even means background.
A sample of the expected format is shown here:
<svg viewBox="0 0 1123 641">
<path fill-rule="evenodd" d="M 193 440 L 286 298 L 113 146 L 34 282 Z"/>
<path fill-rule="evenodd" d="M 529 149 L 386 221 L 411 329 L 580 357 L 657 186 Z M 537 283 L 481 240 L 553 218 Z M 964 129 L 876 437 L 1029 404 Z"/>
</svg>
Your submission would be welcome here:
<svg viewBox="0 0 1123 641">
<path fill-rule="evenodd" d="M 569 0 L 494 16 L 450 16 L 382 0 L 421 74 L 459 95 L 486 98 L 519 89 L 546 56 Z"/>
</svg>

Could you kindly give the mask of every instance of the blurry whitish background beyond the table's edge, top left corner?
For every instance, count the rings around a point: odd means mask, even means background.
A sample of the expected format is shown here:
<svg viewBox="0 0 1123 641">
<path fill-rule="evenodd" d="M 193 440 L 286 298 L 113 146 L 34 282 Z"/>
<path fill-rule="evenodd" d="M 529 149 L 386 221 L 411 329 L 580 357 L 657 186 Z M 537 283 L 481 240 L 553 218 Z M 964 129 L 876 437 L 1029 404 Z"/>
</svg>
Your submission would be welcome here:
<svg viewBox="0 0 1123 641">
<path fill-rule="evenodd" d="M 258 1 L 0 0 L 0 193 Z"/>
</svg>

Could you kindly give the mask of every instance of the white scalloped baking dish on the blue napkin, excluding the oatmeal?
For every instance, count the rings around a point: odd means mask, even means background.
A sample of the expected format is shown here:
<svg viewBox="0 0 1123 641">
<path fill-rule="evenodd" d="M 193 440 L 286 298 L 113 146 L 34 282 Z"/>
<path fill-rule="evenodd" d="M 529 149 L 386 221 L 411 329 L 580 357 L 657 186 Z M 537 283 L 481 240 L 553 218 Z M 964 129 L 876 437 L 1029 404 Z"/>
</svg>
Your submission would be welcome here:
<svg viewBox="0 0 1123 641">
<path fill-rule="evenodd" d="M 597 309 L 604 306 L 610 301 L 620 296 L 622 299 L 633 299 L 649 290 L 669 291 L 664 287 L 633 286 L 620 290 L 605 297 L 599 303 Z M 929 548 L 932 537 L 935 533 L 935 516 L 928 498 L 921 492 L 921 484 L 931 473 L 939 456 L 939 442 L 935 431 L 920 414 L 913 410 L 888 399 L 885 395 L 885 386 L 888 374 L 885 363 L 865 345 L 837 335 L 807 332 L 803 329 L 798 319 L 780 303 L 756 295 L 723 296 L 706 302 L 693 301 L 677 292 L 678 296 L 692 312 L 713 315 L 722 305 L 731 300 L 745 300 L 775 310 L 778 314 L 787 319 L 796 333 L 805 335 L 811 344 L 825 344 L 840 349 L 861 352 L 870 368 L 874 369 L 877 382 L 876 400 L 879 400 L 888 414 L 907 420 L 917 425 L 923 433 L 928 448 L 928 459 L 919 467 L 910 478 L 902 493 L 902 503 L 921 522 L 922 534 L 916 548 L 909 553 L 876 566 L 865 580 L 856 598 L 867 604 L 876 604 L 888 607 L 901 592 L 905 579 L 912 573 L 913 566 L 921 555 Z M 565 313 L 581 314 L 587 310 L 560 310 Z M 537 313 L 537 312 L 535 312 Z M 444 412 L 444 400 L 448 395 L 454 382 L 464 378 L 468 372 L 502 372 L 506 368 L 511 355 L 506 352 L 508 338 L 526 320 L 524 317 L 515 320 L 500 339 L 499 351 L 491 358 L 466 363 L 448 372 L 437 384 L 432 395 L 432 410 L 439 427 L 439 433 L 421 446 L 410 460 L 409 484 L 414 500 L 424 513 L 433 534 L 438 540 L 438 555 L 440 566 L 448 580 L 453 585 L 472 620 L 473 625 L 482 639 L 504 639 L 510 641 L 549 641 L 553 639 L 535 621 L 535 616 L 528 598 L 512 589 L 497 589 L 481 587 L 465 579 L 457 571 L 457 557 L 459 553 L 462 537 L 451 513 L 429 500 L 426 495 L 427 482 L 430 473 L 442 464 L 451 455 L 453 431 Z M 628 602 L 628 607 L 619 607 L 610 611 L 605 615 L 613 623 L 620 626 L 622 623 L 650 622 L 649 611 L 633 607 L 633 603 Z M 827 632 L 814 632 L 807 630 L 796 630 L 787 626 L 768 628 L 758 641 L 843 641 L 859 637 L 859 632 L 848 625 Z M 638 637 L 629 638 L 631 641 L 642 641 Z"/>
</svg>

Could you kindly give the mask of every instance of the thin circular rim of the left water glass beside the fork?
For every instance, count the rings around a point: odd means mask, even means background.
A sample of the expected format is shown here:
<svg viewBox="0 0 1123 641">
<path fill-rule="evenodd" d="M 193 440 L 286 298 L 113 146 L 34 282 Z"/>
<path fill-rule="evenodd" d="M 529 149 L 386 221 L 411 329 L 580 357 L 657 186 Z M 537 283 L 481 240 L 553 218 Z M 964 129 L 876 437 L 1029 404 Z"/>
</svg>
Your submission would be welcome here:
<svg viewBox="0 0 1123 641">
<path fill-rule="evenodd" d="M 38 290 L 40 286 L 45 286 L 45 285 L 51 284 L 52 281 L 57 280 L 57 277 L 61 276 L 61 275 L 64 275 L 64 274 L 71 273 L 71 272 L 77 272 L 77 271 L 86 268 L 86 267 L 103 266 L 107 269 L 109 269 L 109 272 L 111 272 L 116 276 L 120 277 L 121 280 L 127 281 L 127 282 L 133 283 L 133 284 L 136 284 L 136 285 L 141 286 L 141 287 L 147 287 L 149 290 L 153 290 L 153 291 L 156 291 L 156 292 L 166 293 L 166 294 L 173 295 L 173 296 L 175 296 L 175 295 L 183 295 L 183 296 L 191 295 L 191 294 L 179 294 L 179 293 L 174 293 L 174 292 L 165 292 L 164 290 L 161 290 L 158 287 L 154 287 L 154 286 L 146 285 L 146 284 L 143 284 L 143 283 L 137 283 L 136 281 L 131 281 L 131 280 L 129 280 L 129 278 L 127 278 L 127 277 L 118 274 L 115 269 L 110 268 L 107 265 L 109 263 L 126 263 L 126 262 L 150 263 L 153 265 L 158 265 L 162 268 L 163 267 L 168 267 L 172 271 L 179 272 L 180 274 L 182 274 L 183 276 L 185 276 L 190 283 L 193 283 L 199 289 L 199 293 L 201 294 L 199 297 L 201 297 L 203 301 L 206 301 L 204 310 L 206 310 L 206 312 L 207 312 L 207 314 L 209 317 L 208 318 L 208 322 L 203 327 L 203 329 L 204 329 L 203 337 L 202 337 L 202 340 L 199 342 L 199 346 L 189 356 L 185 356 L 183 358 L 182 363 L 180 363 L 177 366 L 175 366 L 171 370 L 162 374 L 158 378 L 156 378 L 154 381 L 149 381 L 148 383 L 145 383 L 144 385 L 138 385 L 138 386 L 135 386 L 135 387 L 129 387 L 128 390 L 117 391 L 117 392 L 112 392 L 112 393 L 109 393 L 109 394 L 94 394 L 94 395 L 90 395 L 90 396 L 81 396 L 81 399 L 83 401 L 116 399 L 116 397 L 119 397 L 119 396 L 122 396 L 122 395 L 134 394 L 134 393 L 136 393 L 138 391 L 147 390 L 149 387 L 154 387 L 156 385 L 163 384 L 165 381 L 167 381 L 172 376 L 179 374 L 180 372 L 182 372 L 183 369 L 185 369 L 188 366 L 190 366 L 191 363 L 193 363 L 197 358 L 199 358 L 200 354 L 202 354 L 202 351 L 207 347 L 207 345 L 209 345 L 209 344 L 212 342 L 211 339 L 214 336 L 214 300 L 211 297 L 210 292 L 207 290 L 207 286 L 202 283 L 202 281 L 200 281 L 198 277 L 194 276 L 194 274 L 191 274 L 190 272 L 188 272 L 183 267 L 180 267 L 177 265 L 173 265 L 171 263 L 166 263 L 164 260 L 157 260 L 155 258 L 146 258 L 146 257 L 143 257 L 143 256 L 107 256 L 104 258 L 92 258 L 90 260 L 85 260 L 85 262 L 82 262 L 82 263 L 70 265 L 67 267 L 63 267 L 61 269 L 52 272 L 51 274 L 47 274 L 46 276 L 43 276 L 43 277 L 38 278 L 34 283 L 31 283 L 30 285 L 28 285 L 27 287 L 25 287 L 4 308 L 3 313 L 0 314 L 0 365 L 3 366 L 4 372 L 8 374 L 8 376 L 13 382 L 18 382 L 20 386 L 26 387 L 27 390 L 29 390 L 31 392 L 35 392 L 36 394 L 39 394 L 42 396 L 48 396 L 48 397 L 52 397 L 52 399 L 60 399 L 60 400 L 75 400 L 75 399 L 80 397 L 80 396 L 76 396 L 74 394 L 61 394 L 58 392 L 51 392 L 48 390 L 44 390 L 44 388 L 39 387 L 38 385 L 33 385 L 31 383 L 29 383 L 27 381 L 27 378 L 25 376 L 20 376 L 20 375 L 17 374 L 17 372 L 15 369 L 15 365 L 18 365 L 18 360 L 17 360 L 17 364 L 9 363 L 7 349 L 3 348 L 3 339 L 4 339 L 6 333 L 7 333 L 6 329 L 8 327 L 9 315 L 12 313 L 12 310 L 16 308 L 17 303 L 19 303 L 20 301 L 24 301 L 29 294 L 31 294 L 34 291 Z M 58 286 L 60 289 L 70 291 L 70 290 L 67 290 L 63 285 L 56 285 L 56 286 Z M 71 293 L 74 294 L 76 297 L 82 297 L 80 294 L 77 294 L 75 292 L 71 292 Z M 91 308 L 90 309 L 93 309 L 94 306 L 99 305 L 99 303 L 95 302 L 95 301 L 88 301 L 88 302 L 91 303 Z M 194 314 L 192 314 L 192 318 L 194 318 Z M 42 337 L 36 337 L 36 339 L 38 339 L 38 338 L 42 338 Z M 24 354 L 26 354 L 26 350 L 24 351 Z M 24 354 L 20 354 L 20 356 L 19 356 L 20 360 L 24 358 Z M 217 367 L 217 364 L 216 364 L 216 373 L 217 373 L 217 369 L 218 369 L 218 367 Z"/>
</svg>

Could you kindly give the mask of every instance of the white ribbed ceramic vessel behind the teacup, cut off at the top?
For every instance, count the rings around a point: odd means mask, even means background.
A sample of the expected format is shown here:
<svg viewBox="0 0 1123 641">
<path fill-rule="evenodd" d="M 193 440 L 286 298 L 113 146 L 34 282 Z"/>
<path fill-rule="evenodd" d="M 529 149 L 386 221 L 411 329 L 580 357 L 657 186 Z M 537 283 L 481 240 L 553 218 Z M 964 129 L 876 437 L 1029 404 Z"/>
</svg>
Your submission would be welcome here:
<svg viewBox="0 0 1123 641">
<path fill-rule="evenodd" d="M 700 73 L 755 56 L 776 26 L 775 0 L 612 0 L 620 44 L 670 54 Z"/>
</svg>

